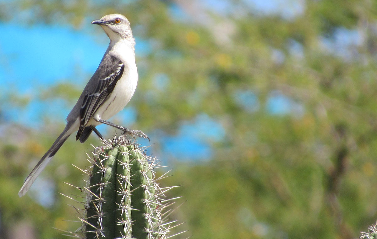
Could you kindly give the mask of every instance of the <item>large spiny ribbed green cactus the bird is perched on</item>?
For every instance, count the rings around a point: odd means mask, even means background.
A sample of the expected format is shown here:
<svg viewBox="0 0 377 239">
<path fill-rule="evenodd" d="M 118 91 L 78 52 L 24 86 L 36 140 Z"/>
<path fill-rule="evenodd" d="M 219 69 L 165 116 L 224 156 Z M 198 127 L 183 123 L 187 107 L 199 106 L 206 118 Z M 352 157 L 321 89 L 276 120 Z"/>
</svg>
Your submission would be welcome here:
<svg viewBox="0 0 377 239">
<path fill-rule="evenodd" d="M 175 198 L 165 199 L 164 193 L 173 187 L 159 187 L 156 167 L 160 166 L 155 158 L 123 136 L 96 148 L 92 167 L 83 170 L 89 174 L 85 212 L 80 218 L 84 238 L 172 237 L 168 234 L 176 225 L 166 218 Z M 71 234 L 82 237 L 77 231 Z"/>
</svg>

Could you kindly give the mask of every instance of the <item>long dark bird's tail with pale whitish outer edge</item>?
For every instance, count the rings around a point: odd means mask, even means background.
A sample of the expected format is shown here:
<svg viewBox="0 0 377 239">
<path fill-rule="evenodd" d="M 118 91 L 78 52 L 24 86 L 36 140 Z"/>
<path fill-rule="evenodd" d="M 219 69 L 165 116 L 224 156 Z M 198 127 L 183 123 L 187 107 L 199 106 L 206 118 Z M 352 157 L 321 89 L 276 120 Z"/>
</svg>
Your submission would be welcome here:
<svg viewBox="0 0 377 239">
<path fill-rule="evenodd" d="M 28 192 L 31 185 L 34 183 L 34 181 L 37 179 L 38 175 L 42 172 L 44 167 L 49 163 L 52 157 L 56 154 L 56 152 L 60 149 L 60 147 L 63 145 L 64 142 L 68 139 L 69 135 L 72 133 L 70 132 L 72 127 L 70 127 L 68 124 L 66 128 L 63 130 L 63 132 L 59 135 L 59 137 L 55 140 L 55 142 L 52 144 L 51 148 L 46 152 L 46 154 L 43 155 L 41 160 L 37 163 L 37 165 L 34 167 L 34 169 L 31 171 L 29 176 L 26 178 L 25 183 L 22 185 L 20 192 L 18 192 L 18 196 L 23 196 Z"/>
</svg>

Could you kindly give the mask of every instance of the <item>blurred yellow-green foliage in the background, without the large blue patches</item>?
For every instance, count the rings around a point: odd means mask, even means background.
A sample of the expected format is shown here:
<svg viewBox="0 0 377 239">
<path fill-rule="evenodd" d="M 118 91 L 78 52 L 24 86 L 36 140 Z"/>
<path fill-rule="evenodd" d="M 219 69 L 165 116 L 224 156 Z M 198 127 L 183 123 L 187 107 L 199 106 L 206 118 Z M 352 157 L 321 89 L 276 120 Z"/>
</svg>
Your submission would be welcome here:
<svg viewBox="0 0 377 239">
<path fill-rule="evenodd" d="M 161 181 L 182 185 L 170 196 L 187 200 L 172 215 L 186 222 L 177 231 L 189 230 L 192 238 L 358 237 L 377 219 L 377 2 L 305 1 L 302 14 L 288 19 L 230 2 L 220 14 L 196 1 L 25 0 L 0 3 L 0 19 L 29 11 L 31 24 L 68 22 L 82 29 L 87 19 L 122 13 L 137 26 L 134 35 L 152 45 L 137 59 L 134 128 L 175 134 L 182 120 L 201 113 L 222 123 L 226 137 L 212 142 L 208 162 L 177 158 L 174 175 Z M 172 5 L 188 18 L 173 17 Z M 337 35 L 352 31 L 359 35 L 355 43 Z M 164 88 L 155 81 L 161 73 L 169 79 Z M 69 88 L 58 85 L 40 97 L 72 100 L 80 89 Z M 237 100 L 242 92 L 257 97 L 255 108 Z M 275 93 L 298 108 L 271 114 L 268 100 Z M 36 238 L 64 238 L 53 227 L 80 226 L 63 221 L 75 220 L 66 205 L 72 200 L 56 194 L 46 208 L 28 195 L 17 197 L 63 122 L 46 123 L 41 132 L 26 128 L 2 125 L 1 233 L 6 238 L 28 222 Z M 43 177 L 56 192 L 77 194 L 63 182 L 84 185 L 70 164 L 88 166 L 89 143 L 99 145 L 95 137 L 83 145 L 68 140 L 46 168 Z"/>
</svg>

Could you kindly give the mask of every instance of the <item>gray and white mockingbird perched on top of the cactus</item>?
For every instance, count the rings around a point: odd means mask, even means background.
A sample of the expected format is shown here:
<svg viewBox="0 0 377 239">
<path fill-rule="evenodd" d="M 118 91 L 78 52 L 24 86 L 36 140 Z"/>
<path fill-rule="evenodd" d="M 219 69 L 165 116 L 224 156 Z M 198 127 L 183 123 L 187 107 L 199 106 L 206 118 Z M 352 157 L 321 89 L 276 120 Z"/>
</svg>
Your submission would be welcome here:
<svg viewBox="0 0 377 239">
<path fill-rule="evenodd" d="M 46 167 L 48 162 L 60 149 L 69 135 L 77 131 L 76 140 L 83 143 L 94 131 L 98 137 L 102 135 L 95 128 L 104 123 L 121 129 L 124 133 L 147 138 L 139 130 L 127 129 L 107 121 L 121 111 L 130 101 L 138 82 L 138 70 L 135 63 L 135 39 L 132 36 L 130 23 L 121 14 L 110 14 L 92 21 L 100 25 L 110 38 L 109 47 L 92 78 L 86 84 L 76 105 L 67 116 L 67 125 L 52 144 L 51 148 L 37 163 L 25 183 L 18 192 L 23 196 L 29 190 L 35 179 Z"/>
</svg>

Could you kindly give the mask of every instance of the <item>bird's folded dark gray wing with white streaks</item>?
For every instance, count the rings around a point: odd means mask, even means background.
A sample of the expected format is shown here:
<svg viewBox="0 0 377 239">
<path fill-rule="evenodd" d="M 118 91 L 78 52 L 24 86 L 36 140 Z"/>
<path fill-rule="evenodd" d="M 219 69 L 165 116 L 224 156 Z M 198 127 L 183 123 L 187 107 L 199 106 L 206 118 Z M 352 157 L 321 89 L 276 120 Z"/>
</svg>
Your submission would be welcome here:
<svg viewBox="0 0 377 239">
<path fill-rule="evenodd" d="M 122 77 L 124 64 L 115 56 L 104 58 L 98 69 L 84 89 L 84 97 L 80 108 L 80 127 L 76 140 L 80 138 L 84 128 L 94 116 L 98 108 L 112 93 L 116 82 Z"/>
</svg>

